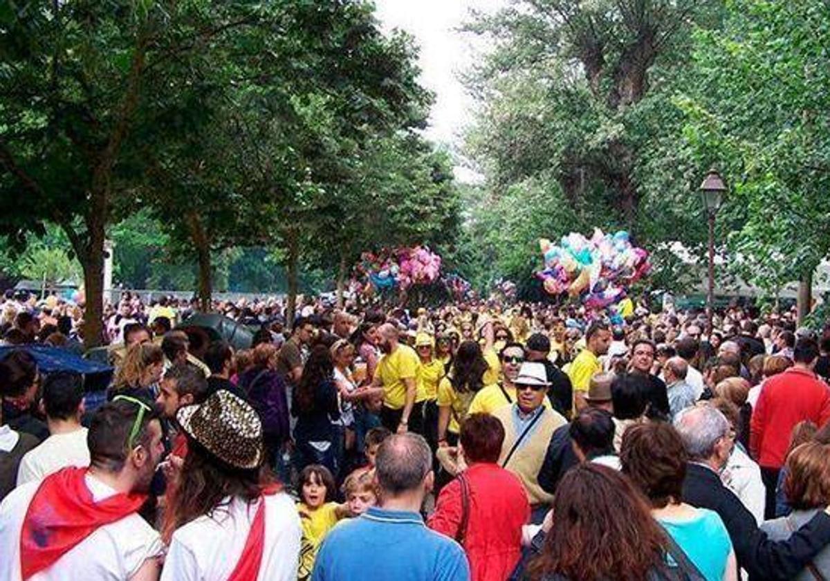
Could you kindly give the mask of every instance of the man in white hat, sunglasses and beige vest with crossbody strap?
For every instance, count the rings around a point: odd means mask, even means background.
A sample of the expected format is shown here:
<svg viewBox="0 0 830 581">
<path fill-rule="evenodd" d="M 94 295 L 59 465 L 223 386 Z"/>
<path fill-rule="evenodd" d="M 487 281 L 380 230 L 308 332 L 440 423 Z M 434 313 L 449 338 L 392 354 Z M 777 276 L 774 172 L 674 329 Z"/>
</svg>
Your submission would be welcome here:
<svg viewBox="0 0 830 581">
<path fill-rule="evenodd" d="M 544 406 L 549 383 L 543 364 L 522 364 L 514 383 L 515 403 L 493 413 L 505 428 L 499 464 L 519 476 L 533 509 L 533 521 L 538 524 L 553 496 L 542 490 L 537 476 L 550 438 L 557 427 L 567 422 L 561 414 Z"/>
</svg>

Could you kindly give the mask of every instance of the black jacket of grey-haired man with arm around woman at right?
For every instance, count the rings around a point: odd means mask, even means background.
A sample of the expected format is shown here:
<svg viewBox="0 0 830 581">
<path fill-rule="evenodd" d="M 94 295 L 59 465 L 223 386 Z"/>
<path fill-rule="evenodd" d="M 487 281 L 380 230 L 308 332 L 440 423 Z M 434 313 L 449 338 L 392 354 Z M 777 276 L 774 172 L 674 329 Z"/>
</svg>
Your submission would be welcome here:
<svg viewBox="0 0 830 581">
<path fill-rule="evenodd" d="M 749 579 L 794 579 L 824 546 L 830 543 L 830 516 L 823 511 L 789 540 L 774 542 L 759 530 L 754 516 L 727 489 L 715 471 L 688 464 L 683 481 L 683 501 L 714 510 L 729 531 L 738 564 Z"/>
</svg>

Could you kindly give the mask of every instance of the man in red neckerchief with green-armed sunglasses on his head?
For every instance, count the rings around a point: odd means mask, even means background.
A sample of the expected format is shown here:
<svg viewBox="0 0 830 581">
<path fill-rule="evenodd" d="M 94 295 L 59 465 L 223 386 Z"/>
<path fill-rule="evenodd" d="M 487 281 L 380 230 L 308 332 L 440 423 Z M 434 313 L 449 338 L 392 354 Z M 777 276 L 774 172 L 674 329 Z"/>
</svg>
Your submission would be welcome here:
<svg viewBox="0 0 830 581">
<path fill-rule="evenodd" d="M 158 579 L 159 534 L 139 515 L 164 453 L 152 408 L 127 396 L 90 423 L 90 466 L 19 486 L 0 505 L 0 579 Z"/>
</svg>

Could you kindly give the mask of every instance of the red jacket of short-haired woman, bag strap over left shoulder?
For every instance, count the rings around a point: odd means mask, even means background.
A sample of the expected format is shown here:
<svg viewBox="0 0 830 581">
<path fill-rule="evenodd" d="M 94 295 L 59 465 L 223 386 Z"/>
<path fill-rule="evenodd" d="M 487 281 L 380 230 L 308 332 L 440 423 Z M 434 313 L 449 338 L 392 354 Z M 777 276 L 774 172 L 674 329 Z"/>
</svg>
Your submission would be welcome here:
<svg viewBox="0 0 830 581">
<path fill-rule="evenodd" d="M 530 520 L 530 505 L 521 481 L 496 464 L 473 464 L 469 483 L 470 512 L 464 551 L 471 581 L 505 581 L 521 556 L 521 528 Z M 461 484 L 456 478 L 438 495 L 427 521 L 432 530 L 456 538 L 461 525 Z"/>
</svg>

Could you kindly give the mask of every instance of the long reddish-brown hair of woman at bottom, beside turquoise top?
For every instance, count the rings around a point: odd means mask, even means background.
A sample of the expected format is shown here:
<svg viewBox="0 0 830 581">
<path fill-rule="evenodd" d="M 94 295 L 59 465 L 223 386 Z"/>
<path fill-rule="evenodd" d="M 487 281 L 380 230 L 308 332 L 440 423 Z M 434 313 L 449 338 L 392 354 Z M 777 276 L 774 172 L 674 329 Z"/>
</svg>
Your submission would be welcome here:
<svg viewBox="0 0 830 581">
<path fill-rule="evenodd" d="M 571 468 L 556 489 L 556 525 L 530 564 L 531 579 L 642 581 L 663 563 L 666 534 L 627 478 L 606 466 Z"/>
</svg>

